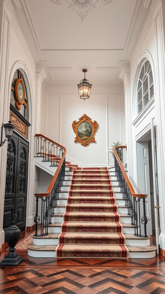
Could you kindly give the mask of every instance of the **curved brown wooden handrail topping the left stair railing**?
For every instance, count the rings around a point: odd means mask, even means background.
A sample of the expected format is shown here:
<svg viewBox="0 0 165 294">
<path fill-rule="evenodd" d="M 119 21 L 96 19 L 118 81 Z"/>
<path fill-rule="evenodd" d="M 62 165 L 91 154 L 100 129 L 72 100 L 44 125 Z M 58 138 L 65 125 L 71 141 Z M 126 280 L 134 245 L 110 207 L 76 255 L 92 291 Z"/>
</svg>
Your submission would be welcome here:
<svg viewBox="0 0 165 294">
<path fill-rule="evenodd" d="M 41 134 L 36 134 L 35 137 L 42 137 L 42 138 L 44 138 L 44 139 L 50 141 L 51 143 L 53 143 L 53 144 L 59 146 L 60 148 L 62 148 L 62 149 L 64 150 L 63 156 L 62 156 L 61 159 L 60 159 L 60 162 L 59 162 L 58 168 L 57 168 L 56 171 L 55 171 L 55 174 L 54 174 L 54 176 L 53 176 L 53 178 L 52 178 L 52 180 L 51 180 L 51 183 L 50 183 L 50 185 L 49 185 L 49 187 L 48 187 L 47 192 L 46 192 L 46 193 L 35 193 L 35 194 L 34 194 L 36 197 L 48 197 L 48 196 L 50 195 L 52 189 L 53 189 L 53 186 L 54 186 L 54 183 L 55 183 L 56 178 L 57 178 L 57 176 L 58 176 L 58 173 L 59 173 L 60 168 L 61 168 L 61 166 L 62 166 L 62 164 L 63 164 L 64 159 L 65 159 L 66 148 L 63 147 L 63 146 L 61 146 L 60 144 L 58 144 L 58 143 L 56 143 L 56 142 L 50 140 L 50 139 L 47 138 L 46 136 L 41 135 Z"/>
</svg>

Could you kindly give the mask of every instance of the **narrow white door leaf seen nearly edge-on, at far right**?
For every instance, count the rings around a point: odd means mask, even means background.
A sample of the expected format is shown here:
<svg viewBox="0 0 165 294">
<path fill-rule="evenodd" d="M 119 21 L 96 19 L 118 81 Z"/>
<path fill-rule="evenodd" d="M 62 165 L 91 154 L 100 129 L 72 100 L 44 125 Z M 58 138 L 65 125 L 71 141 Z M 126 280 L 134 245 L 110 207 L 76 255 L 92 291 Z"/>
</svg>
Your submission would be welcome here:
<svg viewBox="0 0 165 294">
<path fill-rule="evenodd" d="M 159 254 L 159 201 L 157 192 L 157 171 L 156 171 L 156 150 L 155 150 L 155 131 L 153 118 L 151 118 L 151 145 L 152 145 L 152 169 L 153 169 L 153 190 L 154 190 L 154 207 L 155 207 L 155 233 L 156 233 L 156 248 Z"/>
</svg>

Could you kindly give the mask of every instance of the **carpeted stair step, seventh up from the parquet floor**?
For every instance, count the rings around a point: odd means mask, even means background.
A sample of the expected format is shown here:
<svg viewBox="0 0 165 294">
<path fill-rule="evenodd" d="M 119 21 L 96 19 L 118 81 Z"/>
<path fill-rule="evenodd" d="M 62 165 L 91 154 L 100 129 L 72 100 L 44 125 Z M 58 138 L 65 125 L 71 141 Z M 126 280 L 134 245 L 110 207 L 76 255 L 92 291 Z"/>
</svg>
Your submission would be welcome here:
<svg viewBox="0 0 165 294">
<path fill-rule="evenodd" d="M 69 197 L 113 197 L 113 191 L 110 190 L 70 190 Z"/>
</svg>

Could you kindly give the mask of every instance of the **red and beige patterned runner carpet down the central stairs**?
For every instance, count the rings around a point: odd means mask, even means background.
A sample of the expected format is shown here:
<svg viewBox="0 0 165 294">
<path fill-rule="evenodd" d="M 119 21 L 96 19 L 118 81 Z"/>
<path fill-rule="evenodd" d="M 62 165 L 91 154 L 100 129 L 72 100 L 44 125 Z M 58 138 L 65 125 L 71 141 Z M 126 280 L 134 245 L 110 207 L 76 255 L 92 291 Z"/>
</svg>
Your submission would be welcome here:
<svg viewBox="0 0 165 294">
<path fill-rule="evenodd" d="M 73 170 L 56 258 L 128 258 L 107 168 Z"/>
</svg>

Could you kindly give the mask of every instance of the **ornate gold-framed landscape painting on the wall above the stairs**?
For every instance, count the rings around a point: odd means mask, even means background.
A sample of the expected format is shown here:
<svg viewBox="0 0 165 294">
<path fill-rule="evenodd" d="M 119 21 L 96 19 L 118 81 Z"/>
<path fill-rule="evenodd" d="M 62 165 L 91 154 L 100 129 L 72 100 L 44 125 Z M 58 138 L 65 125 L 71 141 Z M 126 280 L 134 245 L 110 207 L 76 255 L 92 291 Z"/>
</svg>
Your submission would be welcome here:
<svg viewBox="0 0 165 294">
<path fill-rule="evenodd" d="M 87 146 L 89 143 L 95 143 L 94 134 L 97 131 L 98 123 L 91 121 L 91 118 L 84 114 L 79 118 L 79 121 L 73 121 L 72 128 L 76 134 L 75 143 L 79 142 L 82 146 Z"/>
</svg>

